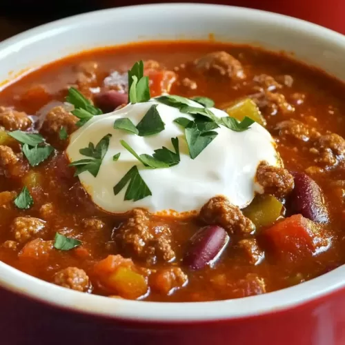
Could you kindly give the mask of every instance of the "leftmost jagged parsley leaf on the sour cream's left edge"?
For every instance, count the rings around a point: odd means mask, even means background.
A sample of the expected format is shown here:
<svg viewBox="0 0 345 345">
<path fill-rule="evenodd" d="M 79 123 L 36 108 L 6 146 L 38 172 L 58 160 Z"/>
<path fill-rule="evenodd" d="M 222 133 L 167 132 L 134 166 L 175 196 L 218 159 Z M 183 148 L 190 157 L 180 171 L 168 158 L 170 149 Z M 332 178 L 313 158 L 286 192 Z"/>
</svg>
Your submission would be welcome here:
<svg viewBox="0 0 345 345">
<path fill-rule="evenodd" d="M 111 134 L 105 135 L 96 147 L 94 144 L 89 143 L 87 148 L 79 150 L 81 155 L 92 158 L 79 159 L 79 161 L 73 161 L 70 164 L 70 166 L 76 167 L 75 176 L 78 176 L 81 172 L 88 171 L 93 177 L 97 177 L 103 158 L 108 150 L 111 136 Z"/>
</svg>

